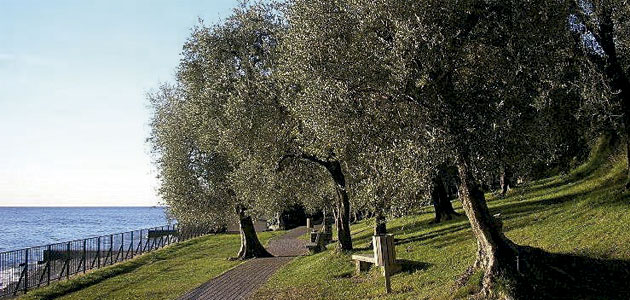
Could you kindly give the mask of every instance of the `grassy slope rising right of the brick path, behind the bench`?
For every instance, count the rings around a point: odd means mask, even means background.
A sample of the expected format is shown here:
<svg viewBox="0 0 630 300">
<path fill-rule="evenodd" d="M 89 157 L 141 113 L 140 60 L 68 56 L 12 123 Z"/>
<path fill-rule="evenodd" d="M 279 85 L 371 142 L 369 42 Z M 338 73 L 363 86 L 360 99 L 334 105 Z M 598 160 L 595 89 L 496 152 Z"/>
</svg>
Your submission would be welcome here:
<svg viewBox="0 0 630 300">
<path fill-rule="evenodd" d="M 583 261 L 580 275 L 558 269 L 557 276 L 574 280 L 568 289 L 579 286 L 588 290 L 593 281 L 608 294 L 592 292 L 574 297 L 589 299 L 625 298 L 630 279 L 630 194 L 622 193 L 624 164 L 620 156 L 611 156 L 604 143 L 595 147 L 590 160 L 564 176 L 534 182 L 511 191 L 508 197 L 488 195 L 492 213 L 501 213 L 506 235 L 520 245 L 538 247 L 559 257 Z M 458 207 L 458 211 L 461 209 Z M 326 251 L 301 257 L 282 268 L 258 291 L 256 299 L 452 299 L 474 292 L 470 284 L 455 288 L 454 281 L 474 261 L 475 242 L 465 217 L 441 224 L 429 224 L 432 210 L 417 216 L 392 220 L 389 231 L 397 239 L 399 259 L 407 260 L 403 272 L 392 279 L 394 293 L 384 294 L 384 280 L 378 272 L 355 275 L 349 254 Z M 357 252 L 366 249 L 372 229 L 371 220 L 352 226 Z M 329 246 L 329 248 L 332 248 Z M 564 262 L 566 262 L 565 260 Z M 580 281 L 593 261 L 599 274 Z M 567 265 L 567 263 L 565 263 Z M 564 266 L 563 266 L 564 268 Z M 611 273 L 610 270 L 619 273 Z M 595 272 L 595 271 L 593 271 Z M 540 280 L 553 281 L 541 275 Z M 574 278 L 579 277 L 579 278 Z M 588 276 L 587 276 L 588 277 Z M 624 279 L 625 278 L 625 279 Z M 583 282 L 586 282 L 583 284 Z M 614 281 L 614 280 L 613 280 Z M 586 286 L 586 287 L 585 287 Z M 566 287 L 565 287 L 566 288 Z M 620 295 L 618 291 L 624 290 Z"/>
</svg>

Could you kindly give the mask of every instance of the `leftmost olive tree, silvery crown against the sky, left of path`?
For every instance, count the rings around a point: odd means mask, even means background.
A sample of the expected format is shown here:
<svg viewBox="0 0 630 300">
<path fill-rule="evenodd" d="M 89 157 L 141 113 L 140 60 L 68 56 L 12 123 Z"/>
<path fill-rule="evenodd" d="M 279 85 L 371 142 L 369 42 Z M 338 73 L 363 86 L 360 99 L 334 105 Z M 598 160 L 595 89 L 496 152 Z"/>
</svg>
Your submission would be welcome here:
<svg viewBox="0 0 630 300">
<path fill-rule="evenodd" d="M 193 29 L 177 71 L 180 102 L 185 106 L 182 119 L 188 125 L 169 136 L 173 139 L 169 146 L 178 147 L 181 137 L 191 136 L 199 155 L 181 157 L 184 163 L 189 161 L 189 168 L 199 160 L 204 163 L 202 172 L 218 175 L 215 157 L 225 164 L 220 181 L 203 185 L 210 194 L 222 191 L 221 196 L 206 199 L 212 205 L 187 200 L 199 209 L 187 211 L 181 206 L 180 210 L 193 219 L 208 212 L 236 216 L 241 259 L 270 256 L 256 236 L 252 216 L 289 204 L 276 189 L 275 163 L 270 159 L 278 156 L 274 153 L 282 145 L 277 141 L 285 128 L 273 76 L 275 48 L 283 30 L 273 5 L 243 3 L 223 23 L 201 23 Z M 154 128 L 160 124 L 156 118 Z M 170 162 L 170 157 L 159 154 L 160 160 Z M 173 176 L 174 186 L 184 179 L 179 176 Z M 165 198 L 173 207 L 183 201 Z"/>
</svg>

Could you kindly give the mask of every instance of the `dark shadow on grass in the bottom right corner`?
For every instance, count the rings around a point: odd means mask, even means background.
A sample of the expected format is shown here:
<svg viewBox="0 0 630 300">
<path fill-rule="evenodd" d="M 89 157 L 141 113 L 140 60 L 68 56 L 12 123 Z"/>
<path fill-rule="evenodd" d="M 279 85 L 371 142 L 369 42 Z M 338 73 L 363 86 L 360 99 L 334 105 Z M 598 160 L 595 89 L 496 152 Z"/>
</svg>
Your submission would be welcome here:
<svg viewBox="0 0 630 300">
<path fill-rule="evenodd" d="M 518 294 L 526 299 L 630 299 L 630 261 L 521 249 Z"/>
</svg>

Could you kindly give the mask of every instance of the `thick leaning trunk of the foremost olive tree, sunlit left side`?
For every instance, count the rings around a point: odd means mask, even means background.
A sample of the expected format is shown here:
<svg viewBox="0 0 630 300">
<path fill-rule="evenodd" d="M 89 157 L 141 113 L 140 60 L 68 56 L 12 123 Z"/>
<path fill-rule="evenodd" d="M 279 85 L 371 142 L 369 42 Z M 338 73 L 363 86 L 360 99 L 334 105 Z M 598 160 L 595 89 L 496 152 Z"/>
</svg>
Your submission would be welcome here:
<svg viewBox="0 0 630 300">
<path fill-rule="evenodd" d="M 517 256 L 516 245 L 502 231 L 500 220 L 490 215 L 485 196 L 469 167 L 469 159 L 460 154 L 457 159 L 460 176 L 460 199 L 472 232 L 477 239 L 477 258 L 468 273 L 482 270 L 484 273 L 480 296 L 492 298 L 496 277 L 505 272 L 514 272 L 514 261 Z"/>
</svg>

